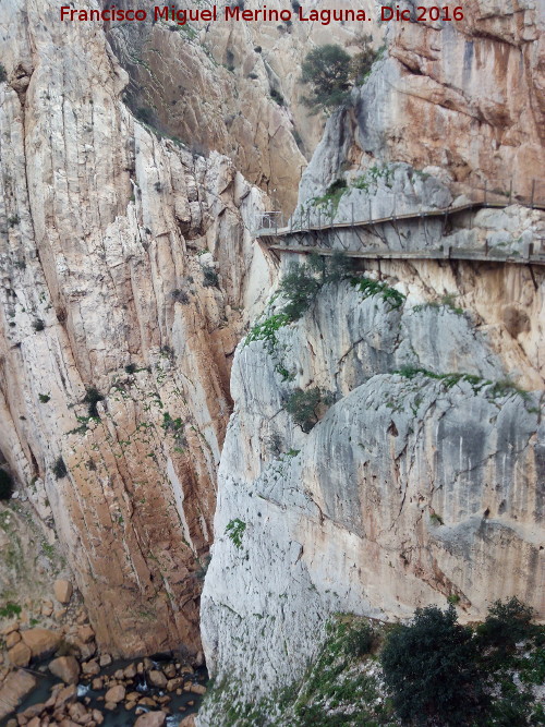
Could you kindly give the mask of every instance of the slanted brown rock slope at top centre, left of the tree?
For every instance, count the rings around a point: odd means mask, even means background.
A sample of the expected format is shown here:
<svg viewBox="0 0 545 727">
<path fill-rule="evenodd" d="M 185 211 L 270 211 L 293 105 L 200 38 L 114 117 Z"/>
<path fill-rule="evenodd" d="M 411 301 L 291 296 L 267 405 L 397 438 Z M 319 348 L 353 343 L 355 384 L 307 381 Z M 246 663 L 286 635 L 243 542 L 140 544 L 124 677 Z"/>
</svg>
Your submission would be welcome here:
<svg viewBox="0 0 545 727">
<path fill-rule="evenodd" d="M 118 7 L 137 4 L 123 0 Z M 301 62 L 313 44 L 338 43 L 358 52 L 362 23 L 223 21 L 223 7 L 230 3 L 215 4 L 219 20 L 211 23 L 108 26 L 112 47 L 131 76 L 126 97 L 135 109 L 145 109 L 150 123 L 190 147 L 228 155 L 277 207 L 291 211 L 302 169 L 324 123 L 320 116 L 308 117 L 301 101 Z M 291 11 L 296 3 L 250 0 L 243 7 Z M 330 3 L 319 0 L 304 7 L 308 12 Z M 376 16 L 370 0 L 350 7 Z M 378 22 L 366 25 L 378 45 Z"/>
</svg>

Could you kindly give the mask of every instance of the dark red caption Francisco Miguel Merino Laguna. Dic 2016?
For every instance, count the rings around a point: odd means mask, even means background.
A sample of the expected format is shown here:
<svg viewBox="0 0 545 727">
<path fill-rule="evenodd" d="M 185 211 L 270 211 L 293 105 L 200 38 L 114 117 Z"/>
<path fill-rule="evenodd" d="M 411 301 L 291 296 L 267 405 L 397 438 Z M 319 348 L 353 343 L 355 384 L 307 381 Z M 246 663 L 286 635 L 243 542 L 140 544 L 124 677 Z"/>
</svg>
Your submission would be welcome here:
<svg viewBox="0 0 545 727">
<path fill-rule="evenodd" d="M 380 14 L 377 20 L 380 21 L 461 21 L 463 20 L 463 8 L 447 8 L 438 5 L 419 5 L 413 14 L 411 11 L 402 10 L 399 5 L 390 8 L 389 5 L 379 7 Z M 322 10 L 305 10 L 302 5 L 298 8 L 296 11 L 291 10 L 269 10 L 267 5 L 263 5 L 256 10 L 242 10 L 241 8 L 233 5 L 232 8 L 226 5 L 225 8 L 217 8 L 213 5 L 211 8 L 191 8 L 191 9 L 179 9 L 177 5 L 156 5 L 155 8 L 149 8 L 148 10 L 137 9 L 123 9 L 117 8 L 114 4 L 104 10 L 77 10 L 70 5 L 63 5 L 60 9 L 60 19 L 61 21 L 102 21 L 102 22 L 113 22 L 113 23 L 123 23 L 126 21 L 146 21 L 152 20 L 154 22 L 158 21 L 171 21 L 178 23 L 178 25 L 185 25 L 189 22 L 214 22 L 218 20 L 223 21 L 243 21 L 243 22 L 256 22 L 256 21 L 272 21 L 272 22 L 288 22 L 288 21 L 311 21 L 318 22 L 322 25 L 329 25 L 331 22 L 346 22 L 346 21 L 371 21 L 373 17 L 365 13 L 364 10 L 328 10 L 323 8 Z"/>
</svg>

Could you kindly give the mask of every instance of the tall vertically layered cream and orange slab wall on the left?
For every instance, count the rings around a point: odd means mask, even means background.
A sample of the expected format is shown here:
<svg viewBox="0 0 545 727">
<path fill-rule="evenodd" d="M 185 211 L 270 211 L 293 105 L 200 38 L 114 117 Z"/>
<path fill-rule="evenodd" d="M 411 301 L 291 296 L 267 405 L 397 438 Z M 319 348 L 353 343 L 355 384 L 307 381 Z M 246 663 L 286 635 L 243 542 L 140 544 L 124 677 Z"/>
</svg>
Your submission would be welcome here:
<svg viewBox="0 0 545 727">
<path fill-rule="evenodd" d="M 196 649 L 261 195 L 133 120 L 98 25 L 34 0 L 2 23 L 0 450 L 98 641 Z"/>
</svg>

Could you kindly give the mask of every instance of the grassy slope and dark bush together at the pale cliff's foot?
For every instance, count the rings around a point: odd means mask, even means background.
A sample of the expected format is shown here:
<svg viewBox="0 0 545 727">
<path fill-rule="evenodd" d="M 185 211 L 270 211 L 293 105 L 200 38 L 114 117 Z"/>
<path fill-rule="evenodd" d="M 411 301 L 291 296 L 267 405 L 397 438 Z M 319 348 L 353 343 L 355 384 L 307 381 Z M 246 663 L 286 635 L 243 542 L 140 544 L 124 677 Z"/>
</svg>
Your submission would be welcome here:
<svg viewBox="0 0 545 727">
<path fill-rule="evenodd" d="M 493 604 L 476 628 L 460 625 L 452 604 L 404 625 L 337 614 L 300 680 L 254 704 L 238 690 L 223 701 L 221 686 L 207 699 L 226 704 L 221 724 L 244 727 L 543 725 L 545 628 L 532 617 L 516 597 Z"/>
</svg>

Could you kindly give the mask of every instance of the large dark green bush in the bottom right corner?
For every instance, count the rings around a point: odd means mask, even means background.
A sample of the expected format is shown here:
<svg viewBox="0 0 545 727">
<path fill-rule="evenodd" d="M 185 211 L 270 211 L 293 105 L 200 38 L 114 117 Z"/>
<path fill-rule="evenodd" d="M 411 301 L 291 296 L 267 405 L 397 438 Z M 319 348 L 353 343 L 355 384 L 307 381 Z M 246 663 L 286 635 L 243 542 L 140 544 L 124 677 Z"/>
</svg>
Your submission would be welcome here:
<svg viewBox="0 0 545 727">
<path fill-rule="evenodd" d="M 533 625 L 532 617 L 532 609 L 512 597 L 495 602 L 476 629 L 458 623 L 452 604 L 445 611 L 417 609 L 410 625 L 397 626 L 380 662 L 403 724 L 544 724 L 532 684 L 540 678 L 535 665 L 545 629 Z"/>
</svg>

